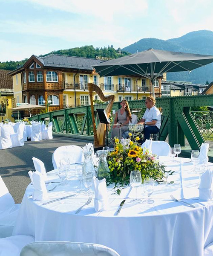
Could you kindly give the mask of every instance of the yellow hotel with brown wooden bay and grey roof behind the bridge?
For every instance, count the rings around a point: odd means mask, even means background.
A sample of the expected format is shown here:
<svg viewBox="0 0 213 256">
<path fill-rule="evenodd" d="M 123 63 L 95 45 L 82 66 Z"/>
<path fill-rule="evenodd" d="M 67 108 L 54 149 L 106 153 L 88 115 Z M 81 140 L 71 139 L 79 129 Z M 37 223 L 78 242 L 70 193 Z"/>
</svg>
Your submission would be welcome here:
<svg viewBox="0 0 213 256">
<path fill-rule="evenodd" d="M 105 96 L 114 94 L 117 102 L 145 99 L 152 94 L 150 80 L 142 76 L 100 77 L 92 66 L 101 61 L 56 54 L 32 55 L 23 66 L 9 73 L 13 78 L 14 106 L 17 103 L 43 105 L 43 101 L 51 101 L 49 111 L 55 111 L 90 105 L 88 83 L 97 84 Z M 155 80 L 156 97 L 161 96 L 161 78 Z M 99 100 L 95 92 L 93 97 Z M 40 110 L 35 110 L 36 113 Z"/>
</svg>

